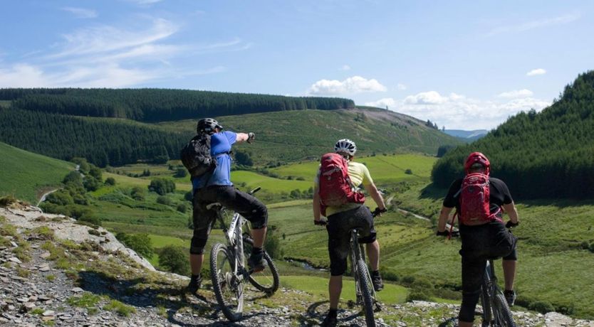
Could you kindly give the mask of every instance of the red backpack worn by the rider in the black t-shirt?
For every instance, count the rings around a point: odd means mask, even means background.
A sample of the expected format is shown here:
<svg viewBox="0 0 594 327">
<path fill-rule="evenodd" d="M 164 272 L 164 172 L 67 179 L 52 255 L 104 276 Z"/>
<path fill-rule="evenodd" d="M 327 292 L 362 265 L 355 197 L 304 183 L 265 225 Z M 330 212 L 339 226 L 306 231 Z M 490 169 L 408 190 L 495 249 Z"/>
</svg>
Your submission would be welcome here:
<svg viewBox="0 0 594 327">
<path fill-rule="evenodd" d="M 499 210 L 491 214 L 489 202 L 489 175 L 483 173 L 469 173 L 462 181 L 460 194 L 460 223 L 464 225 L 479 225 L 477 223 L 500 220 Z"/>
</svg>

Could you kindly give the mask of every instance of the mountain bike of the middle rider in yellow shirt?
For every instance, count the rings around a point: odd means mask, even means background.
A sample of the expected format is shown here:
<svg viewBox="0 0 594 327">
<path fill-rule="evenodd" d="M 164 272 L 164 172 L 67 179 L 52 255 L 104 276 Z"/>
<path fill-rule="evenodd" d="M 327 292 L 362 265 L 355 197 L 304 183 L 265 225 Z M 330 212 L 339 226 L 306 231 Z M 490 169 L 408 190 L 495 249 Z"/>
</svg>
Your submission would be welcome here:
<svg viewBox="0 0 594 327">
<path fill-rule="evenodd" d="M 379 213 L 372 212 L 373 217 Z M 377 302 L 375 289 L 371 282 L 371 274 L 365 263 L 365 250 L 359 243 L 359 231 L 356 228 L 350 231 L 350 263 L 355 279 L 356 304 L 363 305 L 365 311 L 365 323 L 368 327 L 375 327 L 374 311 L 380 311 L 380 304 Z M 374 309 L 375 306 L 375 309 Z"/>
</svg>

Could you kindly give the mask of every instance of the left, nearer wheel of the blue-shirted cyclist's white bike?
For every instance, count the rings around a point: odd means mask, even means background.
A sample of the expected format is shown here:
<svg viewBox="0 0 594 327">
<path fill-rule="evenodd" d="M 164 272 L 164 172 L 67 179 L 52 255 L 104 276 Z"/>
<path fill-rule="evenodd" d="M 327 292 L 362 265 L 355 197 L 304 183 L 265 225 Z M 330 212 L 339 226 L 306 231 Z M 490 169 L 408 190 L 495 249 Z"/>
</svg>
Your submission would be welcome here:
<svg viewBox="0 0 594 327">
<path fill-rule="evenodd" d="M 244 281 L 236 274 L 236 259 L 217 243 L 210 252 L 212 289 L 221 311 L 230 321 L 239 321 L 244 311 Z"/>
</svg>

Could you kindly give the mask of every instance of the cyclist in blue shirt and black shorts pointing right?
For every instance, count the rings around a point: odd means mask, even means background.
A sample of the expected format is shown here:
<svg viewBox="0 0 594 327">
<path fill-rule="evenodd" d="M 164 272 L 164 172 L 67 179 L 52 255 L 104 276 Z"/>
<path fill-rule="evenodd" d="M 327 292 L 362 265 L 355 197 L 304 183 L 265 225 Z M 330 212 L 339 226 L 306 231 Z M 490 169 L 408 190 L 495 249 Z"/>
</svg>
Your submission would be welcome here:
<svg viewBox="0 0 594 327">
<path fill-rule="evenodd" d="M 194 192 L 193 223 L 194 235 L 190 244 L 189 262 L 192 269 L 188 290 L 194 293 L 200 288 L 202 277 L 202 260 L 204 259 L 204 246 L 217 217 L 214 210 L 207 210 L 209 203 L 221 203 L 225 208 L 234 210 L 251 222 L 251 237 L 254 247 L 248 259 L 248 266 L 259 272 L 264 269 L 264 239 L 266 238 L 266 223 L 268 211 L 266 205 L 254 196 L 241 192 L 231 183 L 231 146 L 238 142 L 254 139 L 254 133 L 222 132 L 223 127 L 212 118 L 198 121 L 197 132 L 211 134 L 211 156 L 217 160 L 217 168 L 211 173 L 192 178 Z"/>
</svg>

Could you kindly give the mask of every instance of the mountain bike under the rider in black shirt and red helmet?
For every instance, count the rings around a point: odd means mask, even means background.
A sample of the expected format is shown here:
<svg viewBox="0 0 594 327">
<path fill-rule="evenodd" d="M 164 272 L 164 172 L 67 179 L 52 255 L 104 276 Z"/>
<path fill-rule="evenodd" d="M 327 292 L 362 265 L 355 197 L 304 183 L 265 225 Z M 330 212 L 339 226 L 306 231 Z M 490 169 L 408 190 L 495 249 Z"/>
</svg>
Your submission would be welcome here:
<svg viewBox="0 0 594 327">
<path fill-rule="evenodd" d="M 481 286 L 481 305 L 483 306 L 483 327 L 515 327 L 504 292 L 497 285 L 493 258 L 486 262 L 483 285 Z"/>
</svg>

